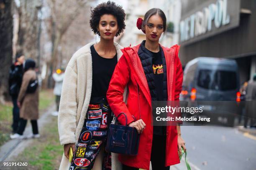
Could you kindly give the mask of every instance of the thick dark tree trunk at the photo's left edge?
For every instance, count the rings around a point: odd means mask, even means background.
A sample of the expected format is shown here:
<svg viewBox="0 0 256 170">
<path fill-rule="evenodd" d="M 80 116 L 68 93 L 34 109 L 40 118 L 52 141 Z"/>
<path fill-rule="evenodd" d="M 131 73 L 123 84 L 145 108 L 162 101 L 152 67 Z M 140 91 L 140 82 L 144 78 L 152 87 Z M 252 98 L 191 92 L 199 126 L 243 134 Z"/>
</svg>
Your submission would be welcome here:
<svg viewBox="0 0 256 170">
<path fill-rule="evenodd" d="M 8 97 L 8 77 L 12 64 L 13 0 L 0 0 L 0 103 Z"/>
</svg>

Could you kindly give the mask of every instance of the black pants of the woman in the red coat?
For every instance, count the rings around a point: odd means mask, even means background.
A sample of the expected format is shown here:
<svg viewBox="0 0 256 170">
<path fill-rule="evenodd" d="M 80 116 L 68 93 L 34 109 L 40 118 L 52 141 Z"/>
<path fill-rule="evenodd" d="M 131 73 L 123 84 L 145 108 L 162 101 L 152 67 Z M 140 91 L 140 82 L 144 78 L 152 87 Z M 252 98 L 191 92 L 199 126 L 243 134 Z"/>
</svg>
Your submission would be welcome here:
<svg viewBox="0 0 256 170">
<path fill-rule="evenodd" d="M 151 165 L 152 170 L 169 170 L 170 166 L 165 167 L 165 152 L 166 152 L 166 135 L 153 135 L 151 148 Z M 123 170 L 139 170 L 123 165 Z"/>
</svg>

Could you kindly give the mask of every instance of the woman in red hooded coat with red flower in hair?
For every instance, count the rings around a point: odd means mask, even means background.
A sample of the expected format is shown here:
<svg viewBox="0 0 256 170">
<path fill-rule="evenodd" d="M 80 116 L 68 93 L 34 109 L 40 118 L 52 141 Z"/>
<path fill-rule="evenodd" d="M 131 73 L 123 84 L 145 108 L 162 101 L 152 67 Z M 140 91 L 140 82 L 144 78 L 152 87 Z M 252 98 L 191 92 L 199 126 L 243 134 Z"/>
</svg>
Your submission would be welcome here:
<svg viewBox="0 0 256 170">
<path fill-rule="evenodd" d="M 137 21 L 137 27 L 146 34 L 146 41 L 122 50 L 123 56 L 115 67 L 107 92 L 107 100 L 115 116 L 124 112 L 128 126 L 141 134 L 136 156 L 118 155 L 123 170 L 169 170 L 179 163 L 181 148 L 186 150 L 180 126 L 152 126 L 151 101 L 179 101 L 182 89 L 182 65 L 179 46 L 170 48 L 159 44 L 166 31 L 166 16 L 158 8 L 152 8 Z M 127 104 L 123 92 L 128 87 Z M 133 116 L 136 120 L 133 119 Z M 125 116 L 118 121 L 125 125 Z M 178 149 L 179 153 L 178 153 Z"/>
</svg>

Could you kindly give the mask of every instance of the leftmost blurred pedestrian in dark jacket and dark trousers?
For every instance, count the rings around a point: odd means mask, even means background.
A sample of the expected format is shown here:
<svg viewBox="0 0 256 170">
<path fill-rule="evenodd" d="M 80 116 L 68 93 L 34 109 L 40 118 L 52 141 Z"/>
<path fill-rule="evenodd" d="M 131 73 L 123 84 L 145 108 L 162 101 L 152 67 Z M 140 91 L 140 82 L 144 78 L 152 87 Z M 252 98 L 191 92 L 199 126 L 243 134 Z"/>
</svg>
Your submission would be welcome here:
<svg viewBox="0 0 256 170">
<path fill-rule="evenodd" d="M 18 123 L 20 120 L 20 109 L 17 105 L 17 98 L 20 92 L 20 86 L 23 76 L 23 62 L 25 60 L 24 55 L 17 54 L 15 62 L 10 67 L 9 72 L 9 94 L 13 101 L 13 134 L 18 130 Z"/>
</svg>

